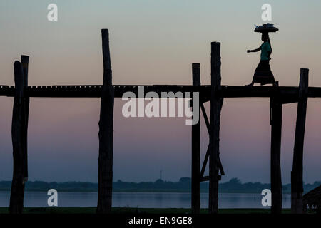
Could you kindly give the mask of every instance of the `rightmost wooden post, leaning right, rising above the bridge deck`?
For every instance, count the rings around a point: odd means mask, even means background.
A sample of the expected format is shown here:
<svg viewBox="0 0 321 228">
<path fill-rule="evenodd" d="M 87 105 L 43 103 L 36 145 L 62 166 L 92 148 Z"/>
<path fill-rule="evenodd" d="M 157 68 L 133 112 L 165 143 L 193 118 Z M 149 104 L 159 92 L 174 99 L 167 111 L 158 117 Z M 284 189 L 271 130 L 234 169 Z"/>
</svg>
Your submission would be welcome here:
<svg viewBox="0 0 321 228">
<path fill-rule="evenodd" d="M 297 103 L 297 123 L 295 125 L 295 145 L 291 172 L 291 212 L 303 212 L 303 145 L 305 138 L 305 118 L 307 115 L 309 69 L 301 69 L 299 84 L 299 102 Z"/>
</svg>

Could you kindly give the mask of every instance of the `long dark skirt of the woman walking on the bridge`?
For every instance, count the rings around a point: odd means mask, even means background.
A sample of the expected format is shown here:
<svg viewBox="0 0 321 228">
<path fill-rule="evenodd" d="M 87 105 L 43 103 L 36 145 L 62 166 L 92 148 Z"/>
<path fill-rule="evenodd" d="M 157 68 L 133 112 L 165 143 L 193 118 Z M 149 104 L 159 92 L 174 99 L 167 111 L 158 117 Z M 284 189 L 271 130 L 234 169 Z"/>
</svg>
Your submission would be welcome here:
<svg viewBox="0 0 321 228">
<path fill-rule="evenodd" d="M 262 85 L 275 83 L 273 73 L 268 60 L 261 60 L 255 69 L 253 81 Z"/>
</svg>

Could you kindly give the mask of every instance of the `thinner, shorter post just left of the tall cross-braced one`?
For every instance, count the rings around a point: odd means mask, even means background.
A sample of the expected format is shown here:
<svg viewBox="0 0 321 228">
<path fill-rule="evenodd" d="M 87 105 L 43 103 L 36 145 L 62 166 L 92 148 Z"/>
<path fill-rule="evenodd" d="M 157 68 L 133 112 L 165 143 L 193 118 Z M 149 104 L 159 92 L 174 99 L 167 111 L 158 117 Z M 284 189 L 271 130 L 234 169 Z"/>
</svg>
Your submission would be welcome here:
<svg viewBox="0 0 321 228">
<path fill-rule="evenodd" d="M 192 75 L 193 86 L 200 86 L 200 63 L 192 64 Z M 192 213 L 200 213 L 200 121 L 192 125 Z"/>
</svg>

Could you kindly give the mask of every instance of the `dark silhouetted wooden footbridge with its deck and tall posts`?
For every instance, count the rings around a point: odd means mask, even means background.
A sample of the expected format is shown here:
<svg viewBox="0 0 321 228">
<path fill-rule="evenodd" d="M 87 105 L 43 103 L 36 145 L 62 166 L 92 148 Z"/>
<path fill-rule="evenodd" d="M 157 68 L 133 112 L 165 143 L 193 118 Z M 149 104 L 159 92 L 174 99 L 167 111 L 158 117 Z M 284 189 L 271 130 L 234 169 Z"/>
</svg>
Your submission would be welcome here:
<svg viewBox="0 0 321 228">
<path fill-rule="evenodd" d="M 97 213 L 111 211 L 113 182 L 113 103 L 114 98 L 121 98 L 123 93 L 131 91 L 138 96 L 140 85 L 112 85 L 111 58 L 109 53 L 108 29 L 102 30 L 103 39 L 103 85 L 88 86 L 28 86 L 29 56 L 21 56 L 21 61 L 14 63 L 15 86 L 0 86 L 0 96 L 14 97 L 12 118 L 12 142 L 14 155 L 14 175 L 11 186 L 10 212 L 20 214 L 24 207 L 24 185 L 28 179 L 27 132 L 30 98 L 101 98 L 99 121 L 99 159 L 98 159 L 98 205 Z M 307 98 L 320 98 L 321 88 L 308 87 L 308 70 L 301 69 L 300 84 L 290 86 L 222 86 L 220 73 L 220 43 L 211 43 L 211 85 L 200 85 L 200 64 L 192 63 L 193 86 L 183 85 L 141 85 L 144 93 L 156 92 L 198 92 L 200 110 L 203 113 L 210 142 L 200 168 L 200 123 L 192 125 L 192 201 L 193 213 L 200 209 L 200 182 L 209 181 L 209 213 L 218 212 L 218 182 L 224 175 L 220 162 L 220 110 L 223 98 L 270 98 L 271 125 L 271 191 L 272 213 L 282 209 L 282 181 L 280 167 L 282 105 L 298 103 L 297 123 L 293 167 L 291 173 L 292 212 L 302 213 L 302 172 L 303 140 Z M 145 95 L 144 94 L 144 95 Z M 193 100 L 192 100 L 193 101 Z M 203 103 L 210 101 L 210 118 Z M 204 176 L 209 160 L 209 175 Z"/>
</svg>

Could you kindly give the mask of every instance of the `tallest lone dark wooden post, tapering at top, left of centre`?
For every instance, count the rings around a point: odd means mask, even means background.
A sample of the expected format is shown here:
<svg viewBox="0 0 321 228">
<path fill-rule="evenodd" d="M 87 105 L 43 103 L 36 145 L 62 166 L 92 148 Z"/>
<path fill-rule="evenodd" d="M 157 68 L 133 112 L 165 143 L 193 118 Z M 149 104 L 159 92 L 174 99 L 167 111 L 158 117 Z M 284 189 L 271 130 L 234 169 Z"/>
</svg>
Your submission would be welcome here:
<svg viewBox="0 0 321 228">
<path fill-rule="evenodd" d="M 108 29 L 101 31 L 103 39 L 103 88 L 99 120 L 98 204 L 96 212 L 111 212 L 113 185 L 113 101 Z"/>
</svg>

